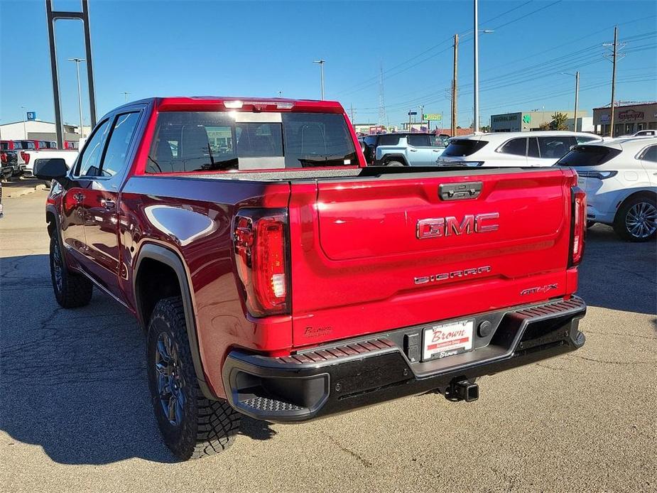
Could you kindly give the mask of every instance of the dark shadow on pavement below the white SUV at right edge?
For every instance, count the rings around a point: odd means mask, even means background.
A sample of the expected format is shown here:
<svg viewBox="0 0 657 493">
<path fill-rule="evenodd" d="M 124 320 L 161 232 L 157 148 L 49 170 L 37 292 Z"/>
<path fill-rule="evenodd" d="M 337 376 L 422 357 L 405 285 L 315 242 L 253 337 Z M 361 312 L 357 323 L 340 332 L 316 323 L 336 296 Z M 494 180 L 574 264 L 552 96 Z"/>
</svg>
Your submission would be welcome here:
<svg viewBox="0 0 657 493">
<path fill-rule="evenodd" d="M 595 224 L 587 231 L 577 295 L 590 306 L 657 315 L 656 258 L 656 242 L 624 242 Z"/>
</svg>

